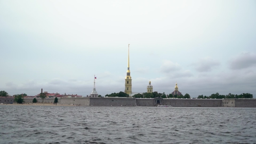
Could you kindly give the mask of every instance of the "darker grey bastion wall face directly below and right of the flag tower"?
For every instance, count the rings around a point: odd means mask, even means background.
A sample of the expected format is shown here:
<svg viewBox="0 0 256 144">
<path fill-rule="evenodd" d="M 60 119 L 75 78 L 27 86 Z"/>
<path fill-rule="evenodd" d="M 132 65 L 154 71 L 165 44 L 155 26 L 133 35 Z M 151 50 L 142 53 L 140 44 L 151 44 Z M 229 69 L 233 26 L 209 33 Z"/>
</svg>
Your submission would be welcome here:
<svg viewBox="0 0 256 144">
<path fill-rule="evenodd" d="M 136 106 L 134 98 L 90 98 L 90 106 Z"/>
</svg>

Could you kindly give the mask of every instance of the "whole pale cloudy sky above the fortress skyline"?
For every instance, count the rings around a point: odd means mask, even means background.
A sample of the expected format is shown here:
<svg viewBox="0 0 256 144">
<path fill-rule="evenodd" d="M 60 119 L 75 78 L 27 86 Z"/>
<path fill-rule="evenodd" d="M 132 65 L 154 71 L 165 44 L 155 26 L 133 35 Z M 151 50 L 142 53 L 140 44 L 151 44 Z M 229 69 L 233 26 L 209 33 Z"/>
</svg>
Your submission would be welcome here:
<svg viewBox="0 0 256 144">
<path fill-rule="evenodd" d="M 0 0 L 0 91 L 256 96 L 256 1 Z"/>
</svg>

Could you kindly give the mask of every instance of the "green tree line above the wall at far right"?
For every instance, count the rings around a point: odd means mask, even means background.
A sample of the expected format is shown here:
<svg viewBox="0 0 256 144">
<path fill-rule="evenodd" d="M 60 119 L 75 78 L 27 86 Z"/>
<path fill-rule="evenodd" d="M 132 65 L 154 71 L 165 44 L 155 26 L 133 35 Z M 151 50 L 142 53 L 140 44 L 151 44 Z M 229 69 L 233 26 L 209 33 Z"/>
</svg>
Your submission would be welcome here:
<svg viewBox="0 0 256 144">
<path fill-rule="evenodd" d="M 197 98 L 204 98 L 204 99 L 223 99 L 223 98 L 253 98 L 253 95 L 250 93 L 242 93 L 240 95 L 234 95 L 234 94 L 227 94 L 227 95 L 220 95 L 218 92 L 216 94 L 212 94 L 210 96 L 203 96 L 199 95 Z"/>
</svg>

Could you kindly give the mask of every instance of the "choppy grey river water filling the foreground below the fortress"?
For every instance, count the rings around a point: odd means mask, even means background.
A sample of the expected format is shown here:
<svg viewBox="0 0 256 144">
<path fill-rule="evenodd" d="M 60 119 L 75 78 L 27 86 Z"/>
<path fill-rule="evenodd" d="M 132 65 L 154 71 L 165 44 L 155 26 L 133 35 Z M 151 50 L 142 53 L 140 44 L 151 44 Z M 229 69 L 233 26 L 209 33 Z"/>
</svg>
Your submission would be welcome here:
<svg viewBox="0 0 256 144">
<path fill-rule="evenodd" d="M 0 143 L 256 143 L 256 108 L 0 106 Z"/>
</svg>

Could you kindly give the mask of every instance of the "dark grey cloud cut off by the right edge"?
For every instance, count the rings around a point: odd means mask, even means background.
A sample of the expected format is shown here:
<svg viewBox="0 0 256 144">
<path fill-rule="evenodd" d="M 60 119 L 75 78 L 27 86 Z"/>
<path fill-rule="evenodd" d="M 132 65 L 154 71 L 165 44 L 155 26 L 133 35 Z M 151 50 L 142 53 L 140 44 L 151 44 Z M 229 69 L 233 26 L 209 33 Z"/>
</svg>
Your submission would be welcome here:
<svg viewBox="0 0 256 144">
<path fill-rule="evenodd" d="M 256 66 L 256 54 L 250 52 L 241 53 L 229 62 L 231 70 L 239 70 L 253 66 Z"/>
</svg>

